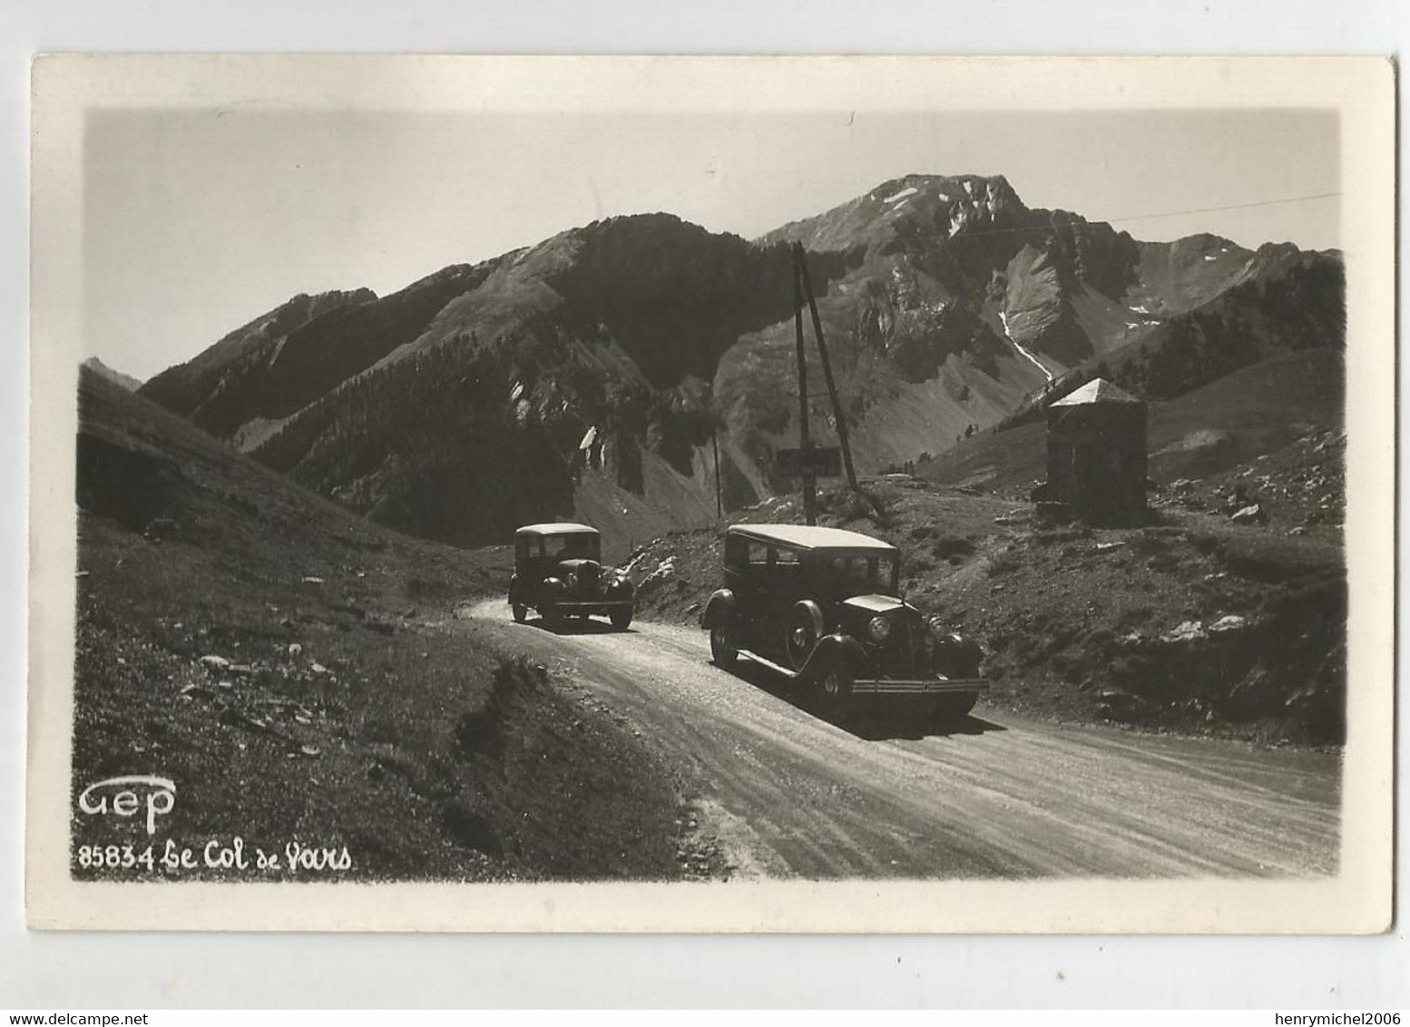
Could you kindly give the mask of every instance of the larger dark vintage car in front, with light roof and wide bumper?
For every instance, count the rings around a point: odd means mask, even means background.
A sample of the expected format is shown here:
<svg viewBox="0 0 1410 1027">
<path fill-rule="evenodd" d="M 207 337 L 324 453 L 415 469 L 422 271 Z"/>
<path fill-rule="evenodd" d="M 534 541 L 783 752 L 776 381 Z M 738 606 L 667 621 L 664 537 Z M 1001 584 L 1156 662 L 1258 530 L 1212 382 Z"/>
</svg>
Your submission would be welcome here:
<svg viewBox="0 0 1410 1027">
<path fill-rule="evenodd" d="M 900 553 L 885 542 L 838 528 L 733 525 L 725 587 L 701 624 L 718 666 L 761 663 L 823 715 L 905 700 L 963 717 L 988 687 L 979 645 L 935 631 L 898 591 Z"/>
</svg>

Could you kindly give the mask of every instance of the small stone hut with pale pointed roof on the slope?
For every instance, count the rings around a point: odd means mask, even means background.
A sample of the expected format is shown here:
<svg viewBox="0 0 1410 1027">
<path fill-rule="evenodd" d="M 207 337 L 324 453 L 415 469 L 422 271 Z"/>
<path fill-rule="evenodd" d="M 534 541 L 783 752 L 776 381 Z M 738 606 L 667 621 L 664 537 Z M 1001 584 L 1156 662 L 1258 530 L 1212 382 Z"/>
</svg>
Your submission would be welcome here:
<svg viewBox="0 0 1410 1027">
<path fill-rule="evenodd" d="M 1041 499 L 1098 523 L 1146 511 L 1146 405 L 1094 378 L 1048 408 L 1048 484 Z"/>
</svg>

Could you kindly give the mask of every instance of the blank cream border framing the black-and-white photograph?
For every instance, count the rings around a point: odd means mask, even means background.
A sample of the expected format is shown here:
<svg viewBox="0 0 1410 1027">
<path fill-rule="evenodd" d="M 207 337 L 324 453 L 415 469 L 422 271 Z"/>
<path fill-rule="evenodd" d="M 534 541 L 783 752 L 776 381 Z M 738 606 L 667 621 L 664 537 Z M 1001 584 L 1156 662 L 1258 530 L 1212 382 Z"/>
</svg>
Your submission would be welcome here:
<svg viewBox="0 0 1410 1027">
<path fill-rule="evenodd" d="M 1055 89 L 1053 83 L 1062 83 Z M 27 906 L 89 930 L 1375 932 L 1390 917 L 1393 73 L 1376 58 L 55 56 L 34 71 Z M 1348 268 L 1341 870 L 1306 882 L 107 885 L 69 877 L 73 432 L 87 110 L 1334 107 Z"/>
</svg>

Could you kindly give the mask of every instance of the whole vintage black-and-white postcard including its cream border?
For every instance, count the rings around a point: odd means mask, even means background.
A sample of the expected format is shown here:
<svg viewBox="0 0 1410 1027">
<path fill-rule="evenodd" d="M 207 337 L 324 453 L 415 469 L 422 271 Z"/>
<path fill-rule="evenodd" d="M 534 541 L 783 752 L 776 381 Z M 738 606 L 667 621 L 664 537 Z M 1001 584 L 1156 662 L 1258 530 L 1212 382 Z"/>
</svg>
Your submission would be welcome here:
<svg viewBox="0 0 1410 1027">
<path fill-rule="evenodd" d="M 1386 930 L 1387 61 L 32 85 L 32 927 Z"/>
</svg>

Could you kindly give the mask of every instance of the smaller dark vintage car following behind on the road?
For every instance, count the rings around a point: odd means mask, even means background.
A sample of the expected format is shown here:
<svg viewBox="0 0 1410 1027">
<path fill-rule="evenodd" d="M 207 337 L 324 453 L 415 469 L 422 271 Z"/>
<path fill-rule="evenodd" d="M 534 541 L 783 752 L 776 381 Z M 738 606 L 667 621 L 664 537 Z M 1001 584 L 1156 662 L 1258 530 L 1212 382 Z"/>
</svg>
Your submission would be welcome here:
<svg viewBox="0 0 1410 1027">
<path fill-rule="evenodd" d="M 568 616 L 606 616 L 613 628 L 626 631 L 636 590 L 625 573 L 602 566 L 596 528 L 526 525 L 515 532 L 509 607 L 519 622 L 536 609 L 550 625 Z"/>
</svg>

